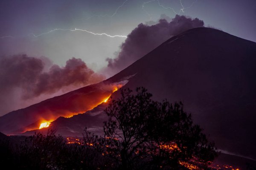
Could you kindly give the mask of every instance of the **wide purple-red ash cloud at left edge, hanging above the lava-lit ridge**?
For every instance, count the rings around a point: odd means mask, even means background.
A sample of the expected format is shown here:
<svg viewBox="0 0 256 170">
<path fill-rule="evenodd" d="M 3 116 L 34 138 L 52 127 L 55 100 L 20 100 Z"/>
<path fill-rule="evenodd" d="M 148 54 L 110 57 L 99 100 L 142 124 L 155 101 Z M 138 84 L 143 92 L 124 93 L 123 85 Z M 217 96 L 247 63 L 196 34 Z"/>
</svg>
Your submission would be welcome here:
<svg viewBox="0 0 256 170">
<path fill-rule="evenodd" d="M 57 95 L 63 94 L 103 79 L 104 76 L 94 73 L 81 59 L 74 57 L 67 60 L 64 67 L 53 65 L 47 57 L 28 57 L 26 54 L 1 57 L 0 115 L 26 107 L 22 103 L 28 100 L 38 102 L 42 95 L 47 99 L 57 92 Z"/>
</svg>

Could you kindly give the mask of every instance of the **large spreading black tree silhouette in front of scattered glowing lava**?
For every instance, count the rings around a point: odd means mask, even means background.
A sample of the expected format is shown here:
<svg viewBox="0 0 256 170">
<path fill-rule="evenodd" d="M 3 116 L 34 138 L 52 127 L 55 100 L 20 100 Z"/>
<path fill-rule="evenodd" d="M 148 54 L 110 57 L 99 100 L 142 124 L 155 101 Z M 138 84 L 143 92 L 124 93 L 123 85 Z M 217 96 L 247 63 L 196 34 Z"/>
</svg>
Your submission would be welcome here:
<svg viewBox="0 0 256 170">
<path fill-rule="evenodd" d="M 207 167 L 216 156 L 214 144 L 193 125 L 183 104 L 154 101 L 145 88 L 136 92 L 121 89 L 121 98 L 105 109 L 105 135 L 94 136 L 86 129 L 84 141 L 122 170 Z"/>
</svg>

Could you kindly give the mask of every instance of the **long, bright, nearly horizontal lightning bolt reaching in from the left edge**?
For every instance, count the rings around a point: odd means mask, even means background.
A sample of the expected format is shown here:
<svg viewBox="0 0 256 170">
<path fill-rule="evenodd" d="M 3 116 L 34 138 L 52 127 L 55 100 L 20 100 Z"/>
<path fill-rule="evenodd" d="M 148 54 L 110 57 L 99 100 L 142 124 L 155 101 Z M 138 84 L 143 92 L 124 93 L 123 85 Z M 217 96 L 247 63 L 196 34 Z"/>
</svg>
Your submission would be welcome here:
<svg viewBox="0 0 256 170">
<path fill-rule="evenodd" d="M 31 34 L 28 34 L 27 36 L 32 35 L 33 37 L 40 37 L 40 36 L 42 36 L 42 35 L 49 34 L 49 33 L 54 32 L 54 31 L 72 31 L 72 32 L 73 32 L 73 31 L 83 31 L 83 32 L 87 32 L 87 33 L 90 33 L 90 34 L 93 34 L 93 35 L 107 36 L 107 37 L 111 37 L 111 38 L 114 38 L 114 37 L 127 38 L 127 36 L 125 36 L 125 35 L 109 35 L 109 34 L 106 34 L 106 33 L 94 33 L 94 32 L 91 32 L 91 31 L 87 31 L 87 30 L 85 30 L 85 29 L 77 29 L 77 28 L 75 28 L 75 29 L 55 28 L 55 29 L 50 30 L 50 31 L 45 32 L 45 33 L 41 33 L 41 34 L 37 34 L 37 35 L 31 33 Z M 2 38 L 8 38 L 8 37 L 14 38 L 14 36 L 4 36 L 4 37 L 0 37 L 0 39 L 2 39 Z M 19 37 L 26 37 L 26 36 L 19 36 Z"/>
</svg>

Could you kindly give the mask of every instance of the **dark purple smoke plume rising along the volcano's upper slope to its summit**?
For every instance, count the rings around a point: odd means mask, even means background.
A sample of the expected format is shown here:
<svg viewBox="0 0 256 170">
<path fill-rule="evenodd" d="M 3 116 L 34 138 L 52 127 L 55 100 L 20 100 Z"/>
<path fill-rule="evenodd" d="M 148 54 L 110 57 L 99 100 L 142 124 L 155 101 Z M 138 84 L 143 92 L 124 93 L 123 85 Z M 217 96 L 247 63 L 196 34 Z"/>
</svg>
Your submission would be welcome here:
<svg viewBox="0 0 256 170">
<path fill-rule="evenodd" d="M 158 23 L 152 21 L 146 24 L 141 23 L 122 43 L 116 58 L 107 59 L 108 67 L 104 71 L 113 75 L 128 67 L 169 38 L 197 27 L 204 27 L 204 21 L 180 15 L 176 15 L 173 19 L 166 15 L 161 15 Z"/>
</svg>

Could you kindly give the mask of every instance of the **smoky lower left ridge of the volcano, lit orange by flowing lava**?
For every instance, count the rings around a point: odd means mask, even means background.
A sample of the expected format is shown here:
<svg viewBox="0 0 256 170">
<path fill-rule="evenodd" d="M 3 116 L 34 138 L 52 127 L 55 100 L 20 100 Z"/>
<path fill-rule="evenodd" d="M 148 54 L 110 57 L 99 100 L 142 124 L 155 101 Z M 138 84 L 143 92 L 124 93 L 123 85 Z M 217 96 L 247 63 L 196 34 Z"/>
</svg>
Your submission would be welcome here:
<svg viewBox="0 0 256 170">
<path fill-rule="evenodd" d="M 84 113 L 104 102 L 125 83 L 126 81 L 111 84 L 100 82 L 12 111 L 0 117 L 0 132 L 19 134 L 38 129 L 41 123 L 52 122 L 59 116 L 70 117 Z"/>
</svg>

